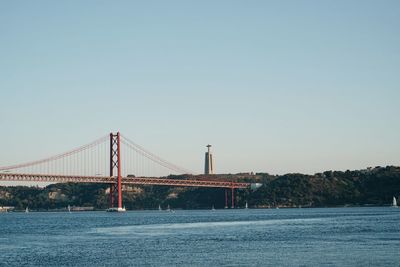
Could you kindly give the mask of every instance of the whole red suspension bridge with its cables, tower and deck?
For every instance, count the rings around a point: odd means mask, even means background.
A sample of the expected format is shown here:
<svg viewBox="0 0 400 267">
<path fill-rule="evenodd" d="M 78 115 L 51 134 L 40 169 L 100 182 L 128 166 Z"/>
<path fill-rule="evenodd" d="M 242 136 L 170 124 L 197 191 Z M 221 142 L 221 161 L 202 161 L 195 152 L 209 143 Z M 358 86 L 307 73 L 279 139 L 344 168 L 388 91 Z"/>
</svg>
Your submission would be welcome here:
<svg viewBox="0 0 400 267">
<path fill-rule="evenodd" d="M 105 183 L 110 185 L 110 208 L 116 210 L 122 210 L 122 185 L 225 188 L 225 206 L 228 206 L 228 190 L 230 190 L 232 208 L 234 208 L 235 189 L 257 186 L 211 179 L 159 178 L 170 174 L 191 173 L 190 170 L 149 152 L 118 132 L 110 133 L 66 153 L 0 167 L 0 181 Z"/>
</svg>

